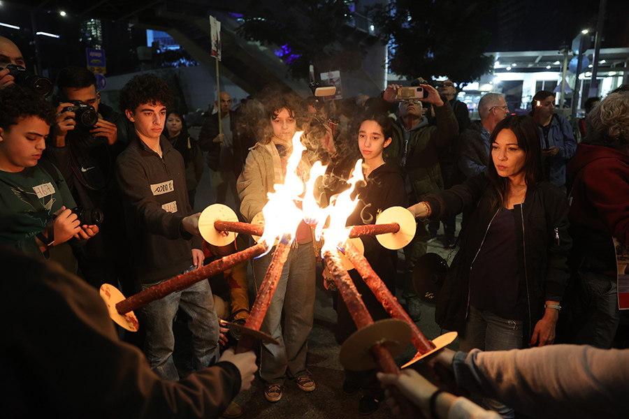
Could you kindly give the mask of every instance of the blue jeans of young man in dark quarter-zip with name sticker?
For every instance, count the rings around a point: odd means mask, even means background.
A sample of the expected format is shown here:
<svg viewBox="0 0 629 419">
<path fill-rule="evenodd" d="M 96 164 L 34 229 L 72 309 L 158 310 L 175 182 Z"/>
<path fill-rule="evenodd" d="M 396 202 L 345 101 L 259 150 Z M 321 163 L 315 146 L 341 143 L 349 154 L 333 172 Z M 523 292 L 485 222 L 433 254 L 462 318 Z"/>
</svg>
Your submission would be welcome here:
<svg viewBox="0 0 629 419">
<path fill-rule="evenodd" d="M 141 284 L 141 290 L 144 291 L 164 281 Z M 188 329 L 192 332 L 194 369 L 209 367 L 219 358 L 219 323 L 210 283 L 204 280 L 143 307 L 147 318 L 146 358 L 153 371 L 160 378 L 168 381 L 179 380 L 179 374 L 173 362 L 175 348 L 173 319 L 180 307 L 188 316 Z"/>
</svg>

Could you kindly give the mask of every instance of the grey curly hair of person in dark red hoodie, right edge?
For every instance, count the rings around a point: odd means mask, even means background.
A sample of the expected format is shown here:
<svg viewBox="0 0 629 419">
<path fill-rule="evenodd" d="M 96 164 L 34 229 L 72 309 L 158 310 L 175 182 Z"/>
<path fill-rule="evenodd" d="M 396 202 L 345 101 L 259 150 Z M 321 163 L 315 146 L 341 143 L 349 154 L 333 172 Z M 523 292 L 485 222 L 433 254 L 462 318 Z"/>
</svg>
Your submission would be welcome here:
<svg viewBox="0 0 629 419">
<path fill-rule="evenodd" d="M 629 146 L 629 91 L 609 94 L 590 115 L 592 142 Z"/>
</svg>

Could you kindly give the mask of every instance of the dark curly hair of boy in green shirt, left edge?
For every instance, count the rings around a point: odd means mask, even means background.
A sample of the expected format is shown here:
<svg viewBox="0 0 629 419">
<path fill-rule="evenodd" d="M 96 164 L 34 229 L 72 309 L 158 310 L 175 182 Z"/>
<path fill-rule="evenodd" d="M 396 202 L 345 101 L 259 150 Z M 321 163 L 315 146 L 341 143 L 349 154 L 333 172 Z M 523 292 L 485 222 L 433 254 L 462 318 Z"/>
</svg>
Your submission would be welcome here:
<svg viewBox="0 0 629 419">
<path fill-rule="evenodd" d="M 0 128 L 6 130 L 24 117 L 38 117 L 55 124 L 55 109 L 52 105 L 29 89 L 12 84 L 0 89 Z"/>
</svg>

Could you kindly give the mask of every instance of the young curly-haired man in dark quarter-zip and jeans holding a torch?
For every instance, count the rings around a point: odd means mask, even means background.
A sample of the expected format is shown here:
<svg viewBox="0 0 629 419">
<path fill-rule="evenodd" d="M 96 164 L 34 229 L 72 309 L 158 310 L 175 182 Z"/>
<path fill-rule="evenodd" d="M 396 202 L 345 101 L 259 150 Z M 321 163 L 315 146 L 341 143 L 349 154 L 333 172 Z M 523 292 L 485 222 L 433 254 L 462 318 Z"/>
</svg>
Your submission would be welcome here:
<svg viewBox="0 0 629 419">
<path fill-rule="evenodd" d="M 171 98 L 166 82 L 150 73 L 136 75 L 120 91 L 120 109 L 135 134 L 116 162 L 116 178 L 140 291 L 203 265 L 200 214 L 192 214 L 188 202 L 184 162 L 161 135 Z M 189 316 L 194 368 L 208 367 L 219 355 L 220 329 L 208 281 L 147 304 L 145 353 L 154 372 L 169 381 L 179 379 L 173 362 L 173 318 L 179 308 Z M 240 407 L 232 405 L 227 417 L 240 416 Z"/>
</svg>

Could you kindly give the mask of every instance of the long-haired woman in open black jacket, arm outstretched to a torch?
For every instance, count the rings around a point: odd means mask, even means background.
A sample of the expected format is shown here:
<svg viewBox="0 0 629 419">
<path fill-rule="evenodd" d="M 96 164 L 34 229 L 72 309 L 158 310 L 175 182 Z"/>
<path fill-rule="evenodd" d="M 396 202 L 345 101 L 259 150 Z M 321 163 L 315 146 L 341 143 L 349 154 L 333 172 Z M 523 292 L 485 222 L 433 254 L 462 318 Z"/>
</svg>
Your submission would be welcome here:
<svg viewBox="0 0 629 419">
<path fill-rule="evenodd" d="M 533 119 L 507 117 L 490 142 L 489 173 L 409 208 L 419 219 L 468 214 L 435 319 L 459 332 L 461 351 L 552 344 L 570 276 L 567 198 L 542 182 Z M 491 400 L 485 405 L 512 414 Z"/>
</svg>

